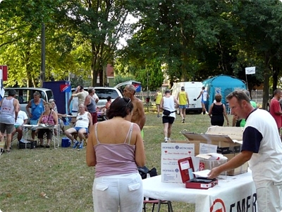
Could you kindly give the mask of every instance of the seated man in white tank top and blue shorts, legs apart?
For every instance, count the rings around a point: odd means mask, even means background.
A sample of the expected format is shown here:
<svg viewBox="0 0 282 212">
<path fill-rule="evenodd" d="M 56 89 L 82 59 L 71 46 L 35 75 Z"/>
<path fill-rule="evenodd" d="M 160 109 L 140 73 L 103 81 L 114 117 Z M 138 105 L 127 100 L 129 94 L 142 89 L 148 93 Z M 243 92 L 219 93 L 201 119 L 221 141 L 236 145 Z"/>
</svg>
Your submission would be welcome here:
<svg viewBox="0 0 282 212">
<path fill-rule="evenodd" d="M 71 139 L 73 142 L 73 148 L 76 148 L 79 144 L 79 149 L 83 148 L 83 136 L 88 134 L 88 128 L 92 126 L 92 117 L 91 114 L 85 111 L 85 105 L 78 105 L 78 116 L 76 117 L 75 126 L 67 129 L 65 131 L 68 139 Z M 80 142 L 76 141 L 72 134 L 77 133 L 80 139 Z"/>
</svg>

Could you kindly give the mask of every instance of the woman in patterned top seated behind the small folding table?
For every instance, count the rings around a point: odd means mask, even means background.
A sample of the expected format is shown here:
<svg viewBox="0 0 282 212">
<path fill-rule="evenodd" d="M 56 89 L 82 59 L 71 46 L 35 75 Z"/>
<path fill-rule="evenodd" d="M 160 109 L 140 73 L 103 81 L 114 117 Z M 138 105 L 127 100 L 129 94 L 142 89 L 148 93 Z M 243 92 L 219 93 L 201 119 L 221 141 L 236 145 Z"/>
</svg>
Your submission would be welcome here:
<svg viewBox="0 0 282 212">
<path fill-rule="evenodd" d="M 41 116 L 39 117 L 38 124 L 47 124 L 47 125 L 58 125 L 58 115 L 56 112 L 54 112 L 52 109 L 52 105 L 49 102 L 46 102 L 44 104 L 45 111 L 42 112 Z M 46 128 L 46 129 L 38 129 L 37 131 L 37 138 L 40 141 L 39 147 L 43 146 L 43 135 L 47 134 L 47 144 L 46 148 L 50 147 L 51 139 L 53 136 L 52 129 Z"/>
</svg>

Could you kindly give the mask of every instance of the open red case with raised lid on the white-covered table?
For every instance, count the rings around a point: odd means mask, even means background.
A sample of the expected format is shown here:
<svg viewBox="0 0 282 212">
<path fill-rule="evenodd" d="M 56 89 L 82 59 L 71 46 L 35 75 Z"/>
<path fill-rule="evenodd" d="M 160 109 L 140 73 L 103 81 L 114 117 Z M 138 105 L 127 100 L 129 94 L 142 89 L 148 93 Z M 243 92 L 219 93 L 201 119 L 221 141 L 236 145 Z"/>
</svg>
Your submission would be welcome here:
<svg viewBox="0 0 282 212">
<path fill-rule="evenodd" d="M 219 184 L 217 179 L 207 179 L 207 177 L 195 177 L 192 158 L 182 158 L 178 160 L 178 167 L 182 182 L 187 189 L 209 189 Z"/>
</svg>

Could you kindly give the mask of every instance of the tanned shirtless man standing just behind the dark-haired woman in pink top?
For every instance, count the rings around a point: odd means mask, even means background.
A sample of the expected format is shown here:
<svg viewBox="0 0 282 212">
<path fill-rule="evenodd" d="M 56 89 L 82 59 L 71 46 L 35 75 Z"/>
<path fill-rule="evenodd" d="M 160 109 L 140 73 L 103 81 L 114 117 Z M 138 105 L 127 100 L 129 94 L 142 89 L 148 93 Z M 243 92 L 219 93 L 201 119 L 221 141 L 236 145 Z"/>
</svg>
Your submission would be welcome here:
<svg viewBox="0 0 282 212">
<path fill-rule="evenodd" d="M 143 102 L 135 97 L 135 91 L 136 90 L 133 85 L 128 85 L 123 89 L 123 95 L 127 98 L 130 98 L 131 102 L 133 102 L 133 116 L 131 118 L 131 122 L 138 124 L 140 130 L 142 131 L 146 122 L 146 117 Z"/>
</svg>

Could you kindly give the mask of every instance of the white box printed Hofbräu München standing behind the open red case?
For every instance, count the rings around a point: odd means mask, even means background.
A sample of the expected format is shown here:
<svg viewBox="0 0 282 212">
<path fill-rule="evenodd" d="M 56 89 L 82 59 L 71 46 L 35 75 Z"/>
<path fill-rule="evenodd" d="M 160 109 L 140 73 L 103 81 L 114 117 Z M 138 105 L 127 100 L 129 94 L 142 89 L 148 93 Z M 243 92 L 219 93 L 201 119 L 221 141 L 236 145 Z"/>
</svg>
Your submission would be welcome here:
<svg viewBox="0 0 282 212">
<path fill-rule="evenodd" d="M 161 143 L 161 181 L 183 183 L 178 159 L 190 156 L 192 156 L 194 167 L 199 167 L 199 160 L 194 157 L 194 143 Z"/>
</svg>

